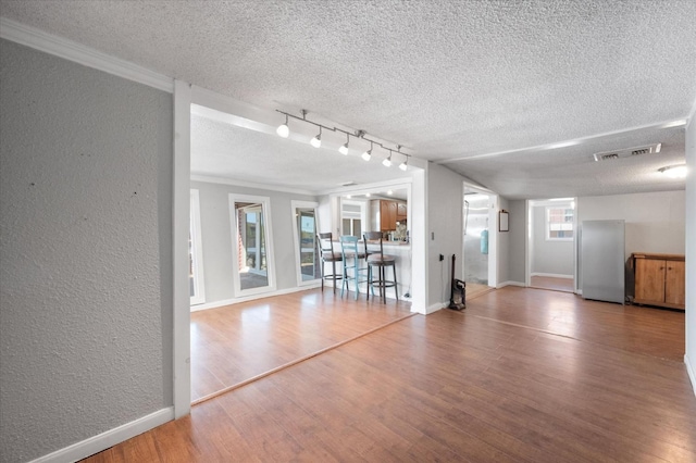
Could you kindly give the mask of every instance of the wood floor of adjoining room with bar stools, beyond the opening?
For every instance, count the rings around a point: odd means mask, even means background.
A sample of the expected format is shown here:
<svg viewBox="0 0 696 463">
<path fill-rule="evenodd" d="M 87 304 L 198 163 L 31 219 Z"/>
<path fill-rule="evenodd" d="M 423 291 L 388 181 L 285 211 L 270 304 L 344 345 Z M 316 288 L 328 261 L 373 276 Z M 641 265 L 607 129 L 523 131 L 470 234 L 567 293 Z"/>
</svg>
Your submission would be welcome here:
<svg viewBox="0 0 696 463">
<path fill-rule="evenodd" d="M 411 315 L 408 302 L 352 295 L 312 289 L 192 312 L 191 400 Z"/>
</svg>

